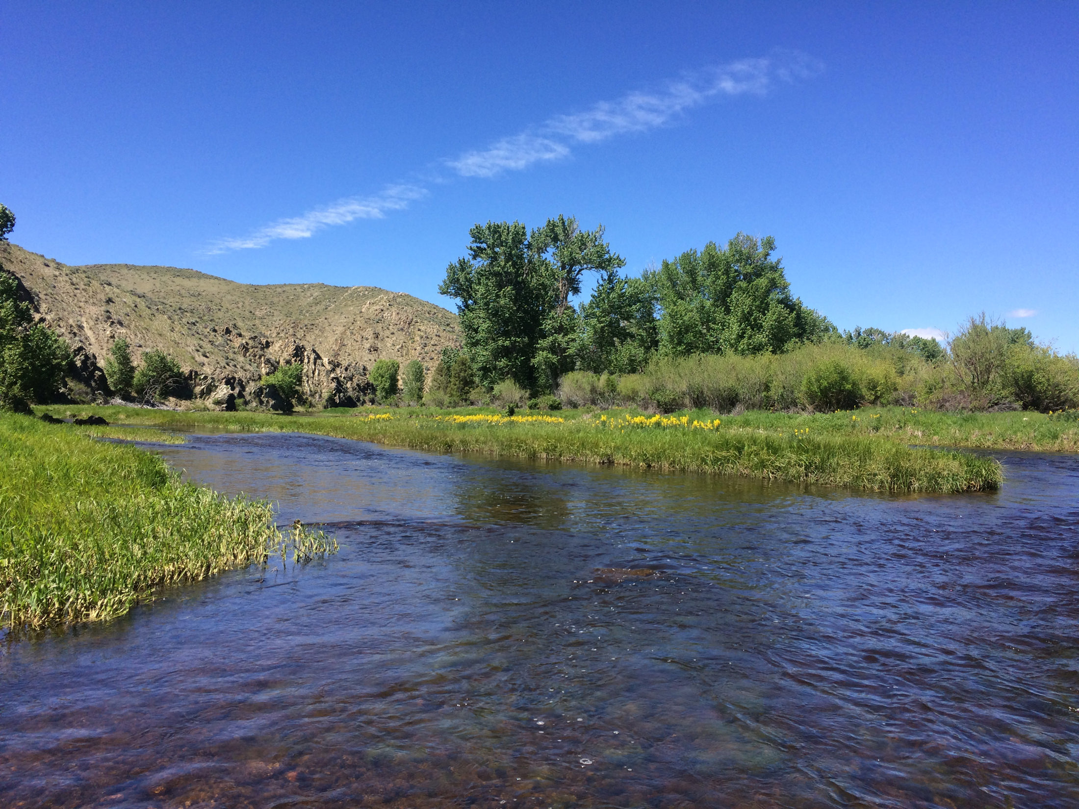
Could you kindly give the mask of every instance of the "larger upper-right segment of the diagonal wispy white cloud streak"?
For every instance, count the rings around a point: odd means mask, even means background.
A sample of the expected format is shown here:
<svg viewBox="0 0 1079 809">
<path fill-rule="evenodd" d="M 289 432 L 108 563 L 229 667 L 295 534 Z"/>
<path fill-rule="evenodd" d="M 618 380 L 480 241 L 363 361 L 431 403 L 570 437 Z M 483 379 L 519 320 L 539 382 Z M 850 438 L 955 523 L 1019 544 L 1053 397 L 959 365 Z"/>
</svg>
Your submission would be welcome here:
<svg viewBox="0 0 1079 809">
<path fill-rule="evenodd" d="M 615 135 L 654 129 L 694 107 L 722 97 L 766 95 L 779 82 L 809 78 L 821 69 L 819 61 L 800 53 L 733 61 L 686 74 L 654 92 L 634 91 L 613 101 L 599 101 L 584 112 L 555 115 L 446 164 L 462 177 L 495 177 L 507 169 L 565 157 L 572 143 L 598 143 Z"/>
</svg>

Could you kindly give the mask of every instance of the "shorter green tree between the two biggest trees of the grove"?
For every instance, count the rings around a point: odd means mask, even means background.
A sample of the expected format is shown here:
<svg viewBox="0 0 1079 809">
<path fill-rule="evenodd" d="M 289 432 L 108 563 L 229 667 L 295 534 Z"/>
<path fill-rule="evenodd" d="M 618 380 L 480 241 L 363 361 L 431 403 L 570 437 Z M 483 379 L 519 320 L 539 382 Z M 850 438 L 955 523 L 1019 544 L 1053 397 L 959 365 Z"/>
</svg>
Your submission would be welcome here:
<svg viewBox="0 0 1079 809">
<path fill-rule="evenodd" d="M 574 352 L 583 371 L 637 373 L 659 343 L 655 294 L 642 278 L 607 270 L 581 306 Z"/>
</svg>

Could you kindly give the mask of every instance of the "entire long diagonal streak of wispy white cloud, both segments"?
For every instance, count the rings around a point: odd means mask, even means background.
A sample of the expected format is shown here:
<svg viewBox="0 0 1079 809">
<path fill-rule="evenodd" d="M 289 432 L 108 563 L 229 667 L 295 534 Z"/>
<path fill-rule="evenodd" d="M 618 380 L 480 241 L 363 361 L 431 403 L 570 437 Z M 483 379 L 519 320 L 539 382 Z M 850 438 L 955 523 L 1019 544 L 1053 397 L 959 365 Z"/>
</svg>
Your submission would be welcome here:
<svg viewBox="0 0 1079 809">
<path fill-rule="evenodd" d="M 694 107 L 719 98 L 763 96 L 777 84 L 811 78 L 821 70 L 821 63 L 796 52 L 732 61 L 687 73 L 655 91 L 636 91 L 613 101 L 599 101 L 583 112 L 554 115 L 486 149 L 464 152 L 441 164 L 461 177 L 496 177 L 504 172 L 568 157 L 575 145 L 599 143 L 616 135 L 655 129 Z M 325 228 L 356 219 L 382 219 L 388 211 L 402 210 L 427 193 L 426 188 L 416 183 L 387 186 L 373 196 L 340 200 L 299 217 L 278 219 L 247 236 L 220 239 L 205 252 L 255 249 L 279 238 L 309 238 Z"/>
</svg>

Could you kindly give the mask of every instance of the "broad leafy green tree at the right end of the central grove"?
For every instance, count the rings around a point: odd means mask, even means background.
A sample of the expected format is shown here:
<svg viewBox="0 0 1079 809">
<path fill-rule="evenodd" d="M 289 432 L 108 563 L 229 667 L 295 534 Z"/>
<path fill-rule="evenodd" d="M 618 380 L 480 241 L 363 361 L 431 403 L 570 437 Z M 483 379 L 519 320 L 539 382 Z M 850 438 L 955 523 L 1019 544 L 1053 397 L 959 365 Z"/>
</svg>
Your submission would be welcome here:
<svg viewBox="0 0 1079 809">
<path fill-rule="evenodd" d="M 778 353 L 836 329 L 793 298 L 771 236 L 739 233 L 725 248 L 709 242 L 647 274 L 661 310 L 660 351 L 687 354 Z"/>
</svg>

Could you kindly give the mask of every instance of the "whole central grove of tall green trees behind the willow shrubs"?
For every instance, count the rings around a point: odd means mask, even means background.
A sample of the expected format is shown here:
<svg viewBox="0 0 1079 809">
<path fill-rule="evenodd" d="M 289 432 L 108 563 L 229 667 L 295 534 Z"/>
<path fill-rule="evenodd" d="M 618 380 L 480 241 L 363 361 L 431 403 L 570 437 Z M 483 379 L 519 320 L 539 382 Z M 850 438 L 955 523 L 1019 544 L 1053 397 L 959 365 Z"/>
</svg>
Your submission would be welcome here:
<svg viewBox="0 0 1079 809">
<path fill-rule="evenodd" d="M 770 236 L 739 233 L 722 248 L 710 242 L 641 277 L 619 272 L 626 261 L 603 241 L 602 225 L 585 231 L 572 217 L 531 231 L 488 222 L 469 236 L 468 255 L 450 264 L 439 291 L 457 300 L 461 356 L 489 390 L 510 380 L 550 392 L 569 371 L 634 373 L 656 353 L 781 353 L 838 334 L 791 294 Z M 577 306 L 571 298 L 586 271 L 599 277 Z M 437 382 L 434 389 L 445 387 Z"/>
</svg>

